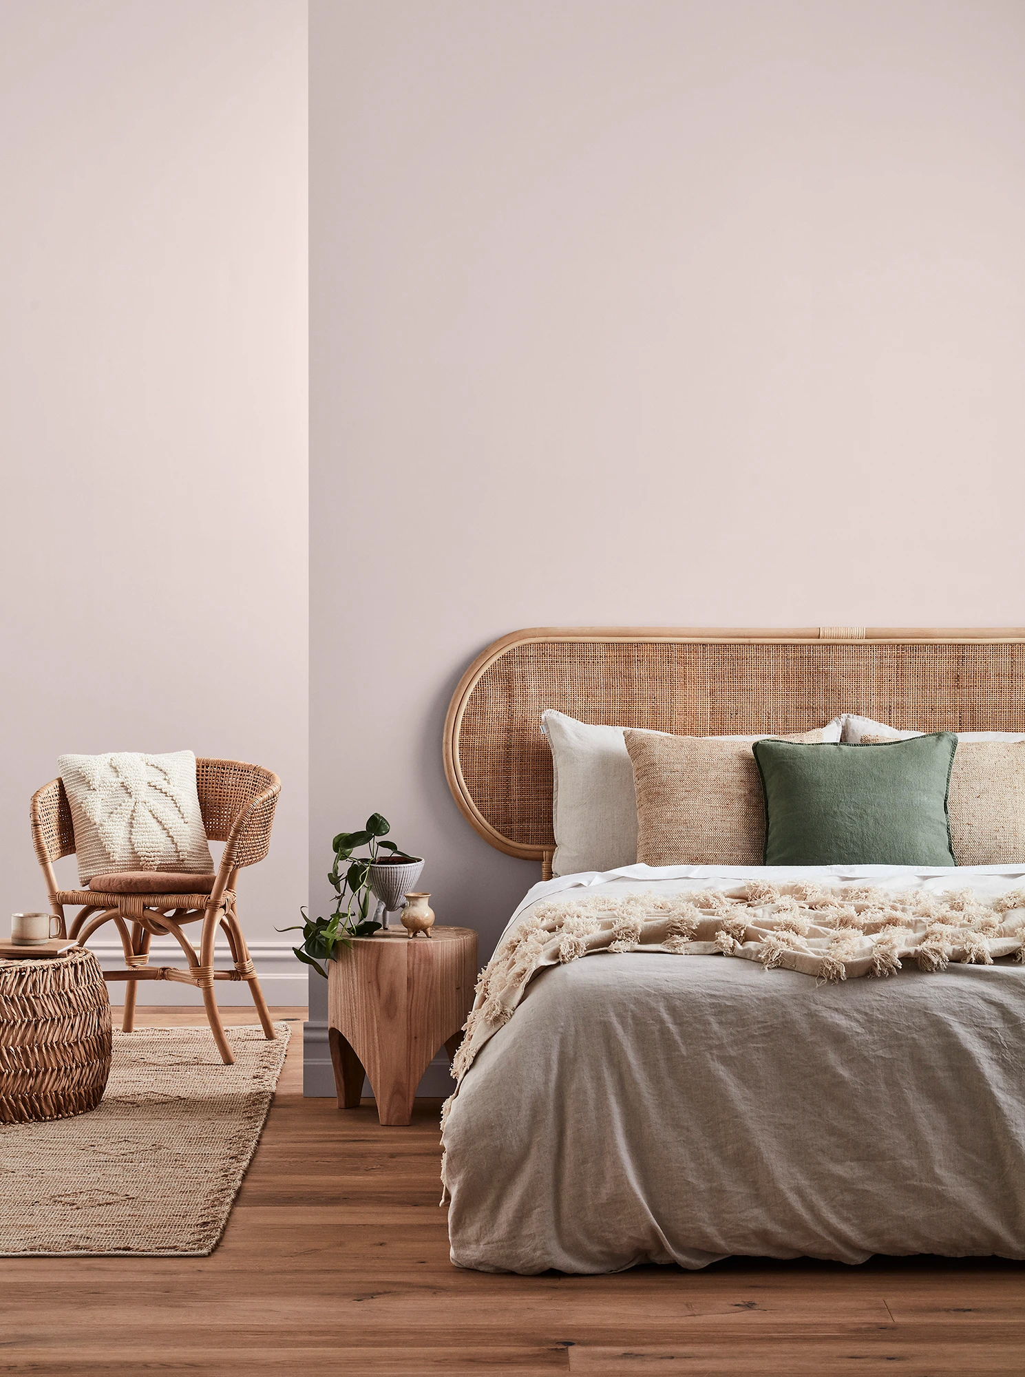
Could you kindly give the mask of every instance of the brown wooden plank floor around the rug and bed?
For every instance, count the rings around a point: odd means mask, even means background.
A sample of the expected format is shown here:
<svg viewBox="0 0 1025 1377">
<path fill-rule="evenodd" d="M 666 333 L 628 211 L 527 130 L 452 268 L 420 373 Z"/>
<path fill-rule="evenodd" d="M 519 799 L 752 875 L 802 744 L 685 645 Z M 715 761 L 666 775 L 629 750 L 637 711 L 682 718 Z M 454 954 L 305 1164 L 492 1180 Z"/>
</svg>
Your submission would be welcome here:
<svg viewBox="0 0 1025 1377">
<path fill-rule="evenodd" d="M 226 1022 L 248 1023 L 247 1009 Z M 1025 1264 L 730 1260 L 501 1276 L 448 1260 L 438 1104 L 302 1097 L 302 1009 L 223 1242 L 205 1259 L 0 1260 L 0 1373 L 99 1377 L 875 1377 L 1025 1373 Z M 141 1011 L 152 1024 L 196 1009 Z"/>
</svg>

